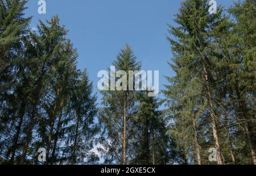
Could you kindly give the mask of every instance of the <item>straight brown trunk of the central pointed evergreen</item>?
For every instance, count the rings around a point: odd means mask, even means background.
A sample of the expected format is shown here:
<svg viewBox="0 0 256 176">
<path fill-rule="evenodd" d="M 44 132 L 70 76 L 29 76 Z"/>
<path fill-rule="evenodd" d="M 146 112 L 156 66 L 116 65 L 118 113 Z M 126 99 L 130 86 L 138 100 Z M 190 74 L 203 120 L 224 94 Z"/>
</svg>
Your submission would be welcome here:
<svg viewBox="0 0 256 176">
<path fill-rule="evenodd" d="M 123 132 L 122 132 L 123 146 L 122 146 L 122 164 L 126 164 L 126 95 L 123 102 Z"/>
</svg>

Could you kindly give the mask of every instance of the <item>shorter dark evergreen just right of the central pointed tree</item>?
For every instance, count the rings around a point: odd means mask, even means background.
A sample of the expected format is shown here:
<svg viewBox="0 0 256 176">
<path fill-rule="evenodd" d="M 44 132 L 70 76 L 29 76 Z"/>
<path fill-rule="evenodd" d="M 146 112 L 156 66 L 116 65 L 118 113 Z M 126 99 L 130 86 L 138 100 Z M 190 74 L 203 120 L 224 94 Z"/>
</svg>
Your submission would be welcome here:
<svg viewBox="0 0 256 176">
<path fill-rule="evenodd" d="M 170 139 L 167 135 L 166 120 L 158 99 L 148 97 L 148 91 L 137 95 L 139 107 L 134 121 L 133 164 L 167 164 L 169 161 Z"/>
</svg>

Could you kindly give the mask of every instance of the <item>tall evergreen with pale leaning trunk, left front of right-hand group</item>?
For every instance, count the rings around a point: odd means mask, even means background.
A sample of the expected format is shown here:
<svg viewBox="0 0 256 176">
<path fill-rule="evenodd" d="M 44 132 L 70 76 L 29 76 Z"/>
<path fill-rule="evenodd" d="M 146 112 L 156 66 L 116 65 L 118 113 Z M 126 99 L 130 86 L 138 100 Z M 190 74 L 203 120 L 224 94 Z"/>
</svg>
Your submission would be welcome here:
<svg viewBox="0 0 256 176">
<path fill-rule="evenodd" d="M 181 3 L 179 14 L 176 15 L 175 19 L 179 27 L 170 26 L 169 30 L 170 34 L 174 35 L 176 39 L 168 37 L 174 53 L 174 58 L 172 59 L 174 64 L 171 64 L 171 66 L 177 75 L 172 79 L 168 78 L 172 86 L 167 86 L 167 89 L 171 91 L 172 87 L 178 87 L 181 90 L 183 87 L 188 87 L 189 84 L 200 87 L 199 90 L 193 90 L 193 87 L 192 90 L 183 90 L 181 97 L 185 96 L 184 98 L 187 98 L 191 91 L 192 94 L 195 94 L 195 91 L 199 94 L 193 100 L 194 102 L 201 102 L 200 104 L 202 105 L 207 100 L 205 113 L 209 115 L 212 127 L 212 137 L 217 150 L 217 164 L 223 164 L 220 139 L 217 134 L 219 117 L 216 112 L 216 103 L 214 102 L 214 87 L 217 80 L 212 70 L 218 64 L 217 57 L 213 52 L 214 28 L 218 26 L 224 17 L 221 15 L 221 9 L 218 10 L 217 14 L 213 15 L 209 14 L 208 9 L 208 1 L 204 0 L 188 0 Z M 167 99 L 171 98 L 170 93 L 166 93 L 166 95 Z M 194 110 L 194 108 L 189 108 L 189 104 L 183 104 L 183 106 L 185 106 L 185 111 L 193 114 L 191 110 Z M 200 106 L 200 104 L 197 104 L 197 106 Z M 181 107 L 181 109 L 183 108 Z M 189 109 L 190 111 L 188 111 Z M 188 146 L 185 146 L 185 148 L 188 148 Z"/>
</svg>

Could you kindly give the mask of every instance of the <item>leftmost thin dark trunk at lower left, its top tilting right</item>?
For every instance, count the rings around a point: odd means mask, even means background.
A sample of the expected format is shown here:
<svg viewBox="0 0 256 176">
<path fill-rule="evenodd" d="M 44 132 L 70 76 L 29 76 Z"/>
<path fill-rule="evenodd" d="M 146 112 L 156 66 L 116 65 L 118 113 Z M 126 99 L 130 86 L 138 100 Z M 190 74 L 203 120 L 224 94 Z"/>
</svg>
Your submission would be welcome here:
<svg viewBox="0 0 256 176">
<path fill-rule="evenodd" d="M 14 164 L 14 158 L 15 158 L 16 148 L 17 148 L 17 144 L 18 144 L 18 140 L 19 140 L 19 133 L 20 133 L 20 129 L 21 129 L 24 114 L 25 114 L 25 108 L 26 108 L 26 104 L 24 102 L 22 102 L 22 106 L 20 107 L 20 110 L 19 110 L 20 120 L 19 120 L 19 124 L 17 127 L 15 137 L 14 137 L 13 153 L 11 154 L 11 160 L 10 160 L 11 164 Z"/>
</svg>

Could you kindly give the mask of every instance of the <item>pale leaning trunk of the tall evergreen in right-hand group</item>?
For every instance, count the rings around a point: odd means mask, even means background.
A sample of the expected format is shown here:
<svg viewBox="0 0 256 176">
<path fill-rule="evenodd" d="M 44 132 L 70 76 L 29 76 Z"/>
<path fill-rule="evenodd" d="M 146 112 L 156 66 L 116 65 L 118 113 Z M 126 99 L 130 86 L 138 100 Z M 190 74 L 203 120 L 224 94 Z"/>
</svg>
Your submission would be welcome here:
<svg viewBox="0 0 256 176">
<path fill-rule="evenodd" d="M 213 138 L 215 141 L 215 149 L 217 151 L 217 164 L 222 165 L 222 159 L 221 159 L 221 151 L 220 151 L 220 143 L 218 141 L 218 135 L 217 135 L 217 127 L 216 127 L 216 115 L 213 110 L 213 102 L 212 102 L 212 93 L 210 91 L 210 85 L 209 85 L 209 79 L 208 79 L 208 71 L 206 67 L 206 62 L 205 58 L 202 58 L 203 60 L 203 69 L 204 69 L 204 77 L 205 77 L 205 86 L 207 89 L 207 99 L 208 99 L 208 104 L 209 104 L 209 109 L 210 109 L 210 119 L 212 123 L 212 132 L 213 132 Z"/>
</svg>

